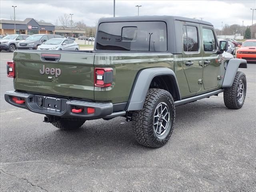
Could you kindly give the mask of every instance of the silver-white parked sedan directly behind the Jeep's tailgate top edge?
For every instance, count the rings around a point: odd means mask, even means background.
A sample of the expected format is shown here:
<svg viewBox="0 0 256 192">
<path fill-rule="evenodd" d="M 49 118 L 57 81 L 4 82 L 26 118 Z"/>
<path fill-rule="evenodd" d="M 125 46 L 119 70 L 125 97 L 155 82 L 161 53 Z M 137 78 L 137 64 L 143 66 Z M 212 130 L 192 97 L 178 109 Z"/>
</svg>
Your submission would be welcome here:
<svg viewBox="0 0 256 192">
<path fill-rule="evenodd" d="M 79 50 L 79 45 L 71 39 L 54 38 L 38 46 L 38 50 Z"/>
</svg>

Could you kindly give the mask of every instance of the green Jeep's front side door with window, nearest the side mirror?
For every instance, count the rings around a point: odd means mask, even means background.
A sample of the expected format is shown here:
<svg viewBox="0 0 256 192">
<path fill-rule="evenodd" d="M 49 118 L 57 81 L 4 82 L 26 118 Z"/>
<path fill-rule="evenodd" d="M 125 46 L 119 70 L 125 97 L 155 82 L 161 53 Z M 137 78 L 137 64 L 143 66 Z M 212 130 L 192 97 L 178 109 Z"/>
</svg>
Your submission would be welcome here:
<svg viewBox="0 0 256 192">
<path fill-rule="evenodd" d="M 213 28 L 202 26 L 203 37 L 203 84 L 204 90 L 212 90 L 218 87 L 220 75 L 220 63 L 218 62 L 218 46 L 217 38 L 214 34 Z"/>
</svg>

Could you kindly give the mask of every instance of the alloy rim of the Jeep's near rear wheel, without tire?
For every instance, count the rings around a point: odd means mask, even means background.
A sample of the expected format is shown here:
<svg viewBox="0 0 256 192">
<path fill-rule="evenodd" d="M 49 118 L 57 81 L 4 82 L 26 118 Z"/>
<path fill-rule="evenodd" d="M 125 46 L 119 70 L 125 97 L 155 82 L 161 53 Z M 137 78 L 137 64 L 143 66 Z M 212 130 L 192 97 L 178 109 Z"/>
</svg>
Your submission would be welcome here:
<svg viewBox="0 0 256 192">
<path fill-rule="evenodd" d="M 156 110 L 154 112 L 154 132 L 160 136 L 163 135 L 169 125 L 170 120 L 170 110 L 168 108 L 168 105 L 165 102 L 161 102 L 156 107 Z"/>
</svg>

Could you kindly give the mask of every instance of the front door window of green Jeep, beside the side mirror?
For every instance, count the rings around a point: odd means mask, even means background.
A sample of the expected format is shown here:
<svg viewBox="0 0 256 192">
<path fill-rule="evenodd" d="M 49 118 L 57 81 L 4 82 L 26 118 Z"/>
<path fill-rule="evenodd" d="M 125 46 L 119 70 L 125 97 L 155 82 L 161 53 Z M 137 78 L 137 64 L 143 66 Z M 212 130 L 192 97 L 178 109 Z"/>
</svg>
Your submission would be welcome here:
<svg viewBox="0 0 256 192">
<path fill-rule="evenodd" d="M 216 40 L 212 29 L 203 28 L 203 43 L 205 52 L 213 52 L 217 50 Z"/>
</svg>

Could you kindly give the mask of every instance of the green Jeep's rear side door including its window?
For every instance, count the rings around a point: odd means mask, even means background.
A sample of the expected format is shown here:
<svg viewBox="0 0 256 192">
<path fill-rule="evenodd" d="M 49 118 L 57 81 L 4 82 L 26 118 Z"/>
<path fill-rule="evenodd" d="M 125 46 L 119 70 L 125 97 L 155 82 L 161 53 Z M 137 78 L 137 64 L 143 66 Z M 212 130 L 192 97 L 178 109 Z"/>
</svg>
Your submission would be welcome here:
<svg viewBox="0 0 256 192">
<path fill-rule="evenodd" d="M 182 66 L 191 93 L 196 93 L 202 87 L 202 52 L 200 46 L 199 24 L 186 22 L 182 26 L 183 52 Z"/>
</svg>

